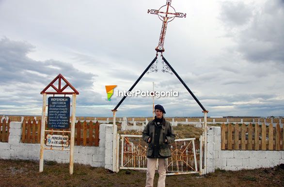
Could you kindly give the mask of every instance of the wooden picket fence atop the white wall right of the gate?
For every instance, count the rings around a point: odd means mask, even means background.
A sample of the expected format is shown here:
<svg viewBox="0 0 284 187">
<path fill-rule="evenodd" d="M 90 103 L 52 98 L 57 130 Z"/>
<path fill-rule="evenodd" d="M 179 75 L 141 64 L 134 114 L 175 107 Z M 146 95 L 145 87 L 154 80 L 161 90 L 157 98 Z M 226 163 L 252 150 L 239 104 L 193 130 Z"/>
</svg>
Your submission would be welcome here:
<svg viewBox="0 0 284 187">
<path fill-rule="evenodd" d="M 283 128 L 265 124 L 221 125 L 222 150 L 284 150 Z"/>
</svg>

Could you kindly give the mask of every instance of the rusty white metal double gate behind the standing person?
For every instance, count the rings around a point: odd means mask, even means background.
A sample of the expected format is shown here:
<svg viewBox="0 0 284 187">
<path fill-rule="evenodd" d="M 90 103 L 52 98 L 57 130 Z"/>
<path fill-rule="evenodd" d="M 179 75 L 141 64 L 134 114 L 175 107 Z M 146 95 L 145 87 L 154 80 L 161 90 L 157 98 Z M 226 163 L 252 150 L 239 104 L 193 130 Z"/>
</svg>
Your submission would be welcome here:
<svg viewBox="0 0 284 187">
<path fill-rule="evenodd" d="M 142 135 L 117 137 L 117 165 L 119 169 L 147 170 L 147 143 Z M 199 149 L 195 138 L 177 139 L 171 144 L 172 157 L 168 158 L 167 175 L 199 173 Z M 158 169 L 158 162 L 157 162 Z"/>
</svg>

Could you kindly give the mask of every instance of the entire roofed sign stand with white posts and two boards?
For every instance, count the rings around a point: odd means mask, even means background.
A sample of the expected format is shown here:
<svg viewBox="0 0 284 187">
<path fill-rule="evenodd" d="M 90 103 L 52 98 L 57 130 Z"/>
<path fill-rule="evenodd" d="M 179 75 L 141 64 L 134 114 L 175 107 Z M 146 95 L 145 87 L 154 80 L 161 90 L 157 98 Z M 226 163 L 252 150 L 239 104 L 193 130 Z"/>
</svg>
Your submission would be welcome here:
<svg viewBox="0 0 284 187">
<path fill-rule="evenodd" d="M 58 87 L 54 86 L 54 83 L 58 80 Z M 61 87 L 62 80 L 65 85 Z M 73 92 L 64 92 L 69 87 Z M 47 92 L 47 89 L 53 88 L 55 92 Z M 40 156 L 39 156 L 39 172 L 43 171 L 44 168 L 44 150 L 60 150 L 70 151 L 70 163 L 69 173 L 73 174 L 73 163 L 74 163 L 74 139 L 75 139 L 75 114 L 76 114 L 76 96 L 79 92 L 61 75 L 59 74 L 54 78 L 47 87 L 41 92 L 43 94 L 43 107 L 42 107 L 42 118 L 41 118 L 41 138 L 40 138 Z M 46 106 L 47 106 L 47 94 L 52 94 L 53 97 L 48 98 L 48 121 L 46 129 Z M 63 97 L 55 97 L 55 94 L 64 94 Z M 72 94 L 72 115 L 71 115 L 71 128 L 70 124 L 70 97 L 65 95 Z M 64 129 L 69 129 L 64 130 Z M 51 129 L 51 130 L 49 130 Z M 55 130 L 54 130 L 55 129 Z M 48 133 L 45 135 L 45 133 Z M 53 133 L 62 133 L 53 134 Z M 69 136 L 66 133 L 70 133 Z M 70 140 L 70 143 L 69 143 Z M 45 146 L 50 146 L 47 148 Z M 70 149 L 67 149 L 70 146 Z M 53 148 L 61 147 L 61 148 Z"/>
</svg>

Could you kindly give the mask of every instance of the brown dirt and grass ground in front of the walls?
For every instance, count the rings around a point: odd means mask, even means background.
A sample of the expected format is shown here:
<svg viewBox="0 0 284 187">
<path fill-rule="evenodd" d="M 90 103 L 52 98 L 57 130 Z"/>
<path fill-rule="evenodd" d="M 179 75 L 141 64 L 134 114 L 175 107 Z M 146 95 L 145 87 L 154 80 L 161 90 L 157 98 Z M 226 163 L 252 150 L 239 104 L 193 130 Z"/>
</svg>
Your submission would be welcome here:
<svg viewBox="0 0 284 187">
<path fill-rule="evenodd" d="M 74 164 L 69 175 L 68 164 L 45 162 L 44 171 L 38 172 L 39 162 L 0 159 L 0 187 L 143 187 L 146 173 L 120 171 L 111 173 L 104 168 Z M 128 174 L 126 174 L 128 173 Z M 156 173 L 154 186 L 157 186 Z M 283 187 L 284 168 L 222 171 L 199 176 L 197 174 L 167 176 L 168 187 Z"/>
</svg>

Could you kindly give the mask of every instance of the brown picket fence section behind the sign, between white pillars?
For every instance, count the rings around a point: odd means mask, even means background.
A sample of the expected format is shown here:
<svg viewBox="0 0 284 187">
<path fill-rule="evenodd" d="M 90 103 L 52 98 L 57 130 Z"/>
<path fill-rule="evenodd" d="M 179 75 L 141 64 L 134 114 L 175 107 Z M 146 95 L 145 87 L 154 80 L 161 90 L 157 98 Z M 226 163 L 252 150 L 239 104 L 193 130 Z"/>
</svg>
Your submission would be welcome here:
<svg viewBox="0 0 284 187">
<path fill-rule="evenodd" d="M 47 128 L 46 123 L 46 129 Z M 53 129 L 58 130 L 58 129 Z M 66 131 L 70 131 L 70 128 Z M 41 133 L 41 120 L 36 123 L 36 120 L 23 120 L 22 123 L 22 142 L 23 143 L 40 143 L 40 133 Z M 59 132 L 46 132 L 47 134 L 62 134 Z M 70 135 L 70 133 L 64 133 L 64 135 Z M 70 136 L 69 136 L 70 137 Z M 75 145 L 82 146 L 99 146 L 99 123 L 90 122 L 80 122 L 75 124 Z"/>
</svg>

